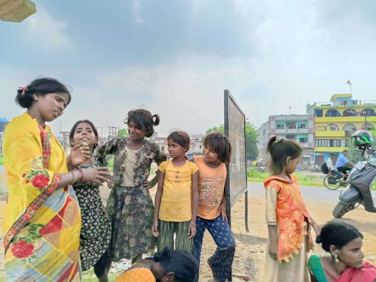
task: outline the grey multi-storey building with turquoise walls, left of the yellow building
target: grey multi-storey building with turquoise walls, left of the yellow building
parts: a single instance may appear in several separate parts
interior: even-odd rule
[[[258,133],[259,159],[267,159],[266,146],[271,137],[280,135],[300,143],[303,148],[304,164],[313,161],[314,116],[308,115],[270,115],[268,121],[256,130]]]

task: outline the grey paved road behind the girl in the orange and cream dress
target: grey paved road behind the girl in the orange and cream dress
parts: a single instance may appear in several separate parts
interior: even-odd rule
[[[342,189],[329,190],[314,186],[300,186],[304,200],[337,203]],[[248,182],[248,195],[265,195],[264,183]]]

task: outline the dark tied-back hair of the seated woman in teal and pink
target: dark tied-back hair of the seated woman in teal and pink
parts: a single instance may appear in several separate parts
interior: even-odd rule
[[[338,250],[356,238],[363,238],[362,233],[355,226],[339,221],[331,220],[326,223],[316,237],[316,243],[320,244],[326,252],[330,252],[330,246],[334,245]]]

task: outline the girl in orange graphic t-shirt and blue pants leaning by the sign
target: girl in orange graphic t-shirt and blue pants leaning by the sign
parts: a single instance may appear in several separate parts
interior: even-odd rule
[[[217,249],[207,263],[214,281],[226,281],[235,255],[235,238],[227,221],[224,197],[226,163],[231,159],[231,145],[229,139],[221,133],[206,135],[203,145],[203,156],[191,159],[199,167],[199,206],[193,255],[200,265],[203,235],[208,229]]]

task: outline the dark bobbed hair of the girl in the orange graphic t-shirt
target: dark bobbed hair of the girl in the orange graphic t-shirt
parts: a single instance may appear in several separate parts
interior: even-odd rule
[[[230,140],[226,135],[223,135],[220,132],[209,133],[205,136],[204,146],[209,146],[215,153],[217,153],[221,162],[231,162],[232,148]]]

